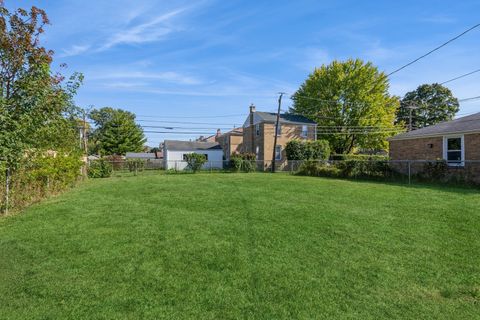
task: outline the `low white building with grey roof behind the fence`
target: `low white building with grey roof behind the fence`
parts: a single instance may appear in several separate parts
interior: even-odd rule
[[[207,162],[203,166],[204,169],[223,168],[223,150],[216,142],[165,140],[163,145],[165,169],[185,169],[187,166],[185,156],[189,153],[205,155]]]

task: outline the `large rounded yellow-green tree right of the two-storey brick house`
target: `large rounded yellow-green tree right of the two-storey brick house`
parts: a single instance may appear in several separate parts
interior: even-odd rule
[[[293,95],[290,112],[318,123],[320,138],[339,154],[358,148],[386,149],[394,135],[397,97],[386,75],[362,60],[333,61],[308,76]]]

